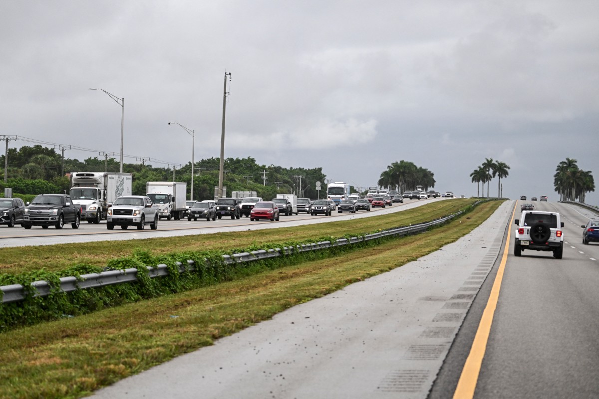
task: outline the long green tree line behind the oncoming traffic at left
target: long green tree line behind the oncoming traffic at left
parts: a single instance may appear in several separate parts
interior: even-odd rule
[[[218,158],[202,159],[194,163],[193,196],[195,200],[214,197],[214,186],[219,180]],[[264,199],[272,199],[279,193],[296,193],[298,196],[316,198],[315,183],[326,181],[322,167],[305,169],[303,167],[282,167],[259,165],[252,157],[244,159],[225,159],[226,173],[223,186],[230,196],[232,191],[256,191]],[[0,165],[4,165],[4,156],[0,156]],[[41,145],[23,146],[18,150],[9,148],[7,182],[4,183],[4,169],[0,180],[1,193],[5,187],[13,188],[13,193],[43,194],[63,193],[71,187],[71,172],[119,172],[119,162],[114,158],[86,160],[62,159],[53,148]],[[182,181],[187,183],[187,197],[191,190],[191,162],[180,169],[174,167],[153,167],[145,163],[123,163],[123,172],[132,173],[132,193],[146,194],[147,181]],[[266,176],[266,180],[262,179]],[[300,179],[302,176],[301,186]],[[325,185],[323,184],[323,188]],[[326,190],[326,188],[325,188]]]

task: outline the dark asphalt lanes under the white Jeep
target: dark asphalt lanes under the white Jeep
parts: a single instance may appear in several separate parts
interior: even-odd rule
[[[583,245],[580,225],[599,215],[555,202],[535,205],[561,214],[564,257],[537,251],[514,257],[512,234],[474,397],[598,398],[599,244]],[[455,391],[494,278],[492,273],[474,301],[430,398]]]

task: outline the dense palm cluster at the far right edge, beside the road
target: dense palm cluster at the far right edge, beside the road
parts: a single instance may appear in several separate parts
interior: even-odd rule
[[[566,158],[555,168],[553,186],[560,201],[585,202],[586,193],[595,191],[595,180],[591,170],[582,170],[576,159]]]

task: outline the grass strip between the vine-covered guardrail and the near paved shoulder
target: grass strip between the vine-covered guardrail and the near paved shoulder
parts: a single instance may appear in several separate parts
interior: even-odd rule
[[[461,202],[460,207],[464,204]],[[333,258],[9,331],[0,340],[0,397],[82,397],[173,357],[211,345],[214,339],[269,319],[295,304],[436,251],[469,233],[499,205],[500,202],[483,203],[441,228]],[[386,217],[379,223],[386,223]],[[314,232],[308,235],[310,229],[314,227],[301,234],[314,236]],[[351,227],[323,229],[347,232]],[[269,234],[252,233],[265,234],[260,240],[268,240]],[[296,234],[291,236],[298,239]],[[279,238],[279,234],[273,237]],[[243,242],[248,239],[244,237]]]

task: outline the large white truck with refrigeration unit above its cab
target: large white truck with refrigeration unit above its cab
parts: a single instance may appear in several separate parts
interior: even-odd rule
[[[106,218],[108,203],[131,195],[131,173],[72,172],[69,196],[81,206],[81,218],[98,224]]]

